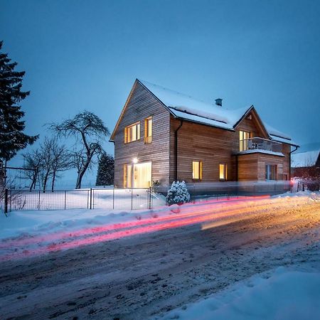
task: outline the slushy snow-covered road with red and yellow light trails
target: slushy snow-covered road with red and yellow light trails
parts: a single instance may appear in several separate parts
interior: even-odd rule
[[[149,319],[274,267],[319,270],[319,198],[242,205],[198,206],[94,238],[60,234],[50,253],[31,257],[14,256],[19,240],[6,242],[12,259],[5,252],[0,265],[0,319]],[[79,247],[83,239],[90,244]]]

